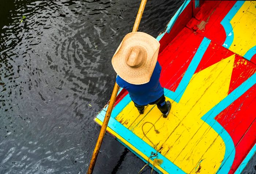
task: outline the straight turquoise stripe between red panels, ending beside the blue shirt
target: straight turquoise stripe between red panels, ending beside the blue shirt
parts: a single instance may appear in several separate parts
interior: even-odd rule
[[[210,39],[207,39],[206,37],[203,38],[203,41],[200,43],[195,56],[193,57],[191,63],[189,64],[188,69],[185,72],[184,76],[182,77],[181,82],[178,85],[175,92],[165,89],[166,97],[173,99],[177,103],[180,101],[185,89],[188,86],[189,81],[191,80],[193,74],[195,73],[196,68],[198,67],[200,61],[202,60],[202,57],[206,52],[206,49],[208,48],[210,42]]]

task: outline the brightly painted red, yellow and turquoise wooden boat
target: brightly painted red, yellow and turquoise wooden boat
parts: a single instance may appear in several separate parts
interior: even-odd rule
[[[157,40],[169,116],[139,114],[120,88],[107,131],[158,173],[241,173],[256,151],[256,2],[186,0]]]

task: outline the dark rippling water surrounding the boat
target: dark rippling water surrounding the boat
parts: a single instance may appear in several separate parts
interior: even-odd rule
[[[1,174],[86,173],[100,129],[93,118],[116,76],[111,58],[139,3],[1,0]],[[139,31],[156,37],[181,3],[148,0]],[[106,134],[94,173],[133,174],[143,166]]]

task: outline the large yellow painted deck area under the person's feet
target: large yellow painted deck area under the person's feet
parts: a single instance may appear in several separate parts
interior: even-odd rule
[[[201,172],[216,172],[225,155],[225,144],[201,117],[227,96],[234,57],[225,58],[193,75],[180,102],[169,99],[172,110],[167,118],[162,117],[156,106],[150,105],[147,107],[150,113],[136,119],[131,115],[133,119],[130,119],[131,113],[138,114],[131,102],[120,113],[122,116],[117,116],[117,120],[130,119],[132,124],[125,124],[127,128],[152,147],[163,147],[161,154],[186,173],[195,173],[204,158],[207,159],[200,163]],[[150,140],[142,132],[145,122],[152,122],[160,132],[157,134],[153,126],[146,123],[144,132]]]

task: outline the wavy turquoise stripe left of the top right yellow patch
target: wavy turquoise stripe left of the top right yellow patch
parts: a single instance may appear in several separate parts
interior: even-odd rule
[[[242,7],[244,2],[245,1],[237,1],[236,4],[234,4],[231,10],[227,13],[225,18],[221,21],[221,24],[226,32],[226,40],[222,46],[224,46],[227,49],[231,46],[234,40],[234,32],[230,21],[236,15],[237,11]]]

